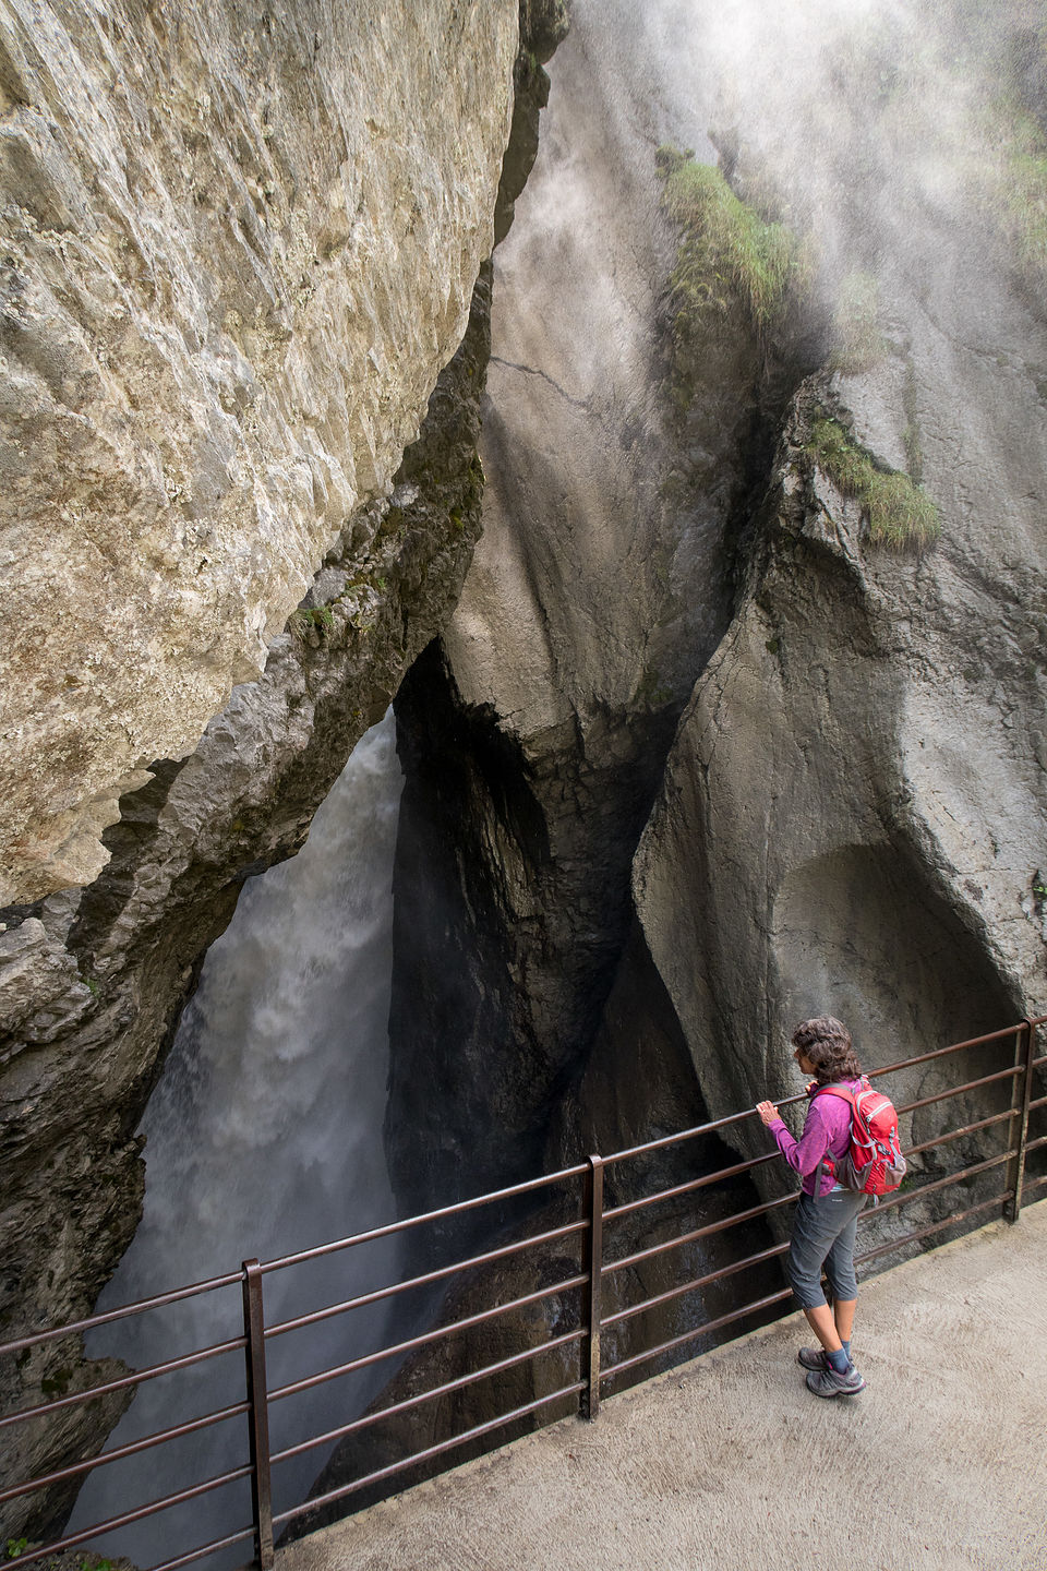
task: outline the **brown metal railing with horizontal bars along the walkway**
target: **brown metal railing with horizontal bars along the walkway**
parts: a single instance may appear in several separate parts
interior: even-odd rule
[[[881,1243],[866,1249],[863,1254],[859,1254],[857,1263],[868,1265],[873,1260],[904,1251],[910,1244],[921,1243],[936,1233],[958,1229],[964,1224],[980,1225],[986,1219],[990,1219],[994,1213],[1014,1222],[1019,1218],[1022,1205],[1028,1200],[1033,1191],[1039,1191],[1044,1185],[1047,1185],[1047,1175],[1030,1178],[1027,1174],[1027,1158],[1030,1153],[1047,1147],[1047,1133],[1030,1136],[1031,1119],[1044,1114],[1047,1109],[1047,1095],[1034,1095],[1034,1075],[1047,1065],[1047,1054],[1038,1056],[1036,1053],[1038,1031],[1044,1024],[1047,1024],[1047,1016],[1039,1020],[1023,1020],[1017,1026],[1008,1026],[1003,1031],[975,1037],[969,1042],[953,1043],[947,1048],[939,1048],[931,1053],[920,1054],[918,1057],[904,1059],[899,1064],[892,1064],[870,1071],[870,1078],[879,1078],[882,1075],[893,1075],[918,1068],[921,1065],[932,1065],[936,1060],[945,1060],[953,1054],[970,1054],[978,1049],[994,1049],[994,1054],[998,1056],[1000,1053],[1006,1054],[1008,1043],[1012,1045],[1012,1053],[1008,1054],[1009,1062],[1006,1062],[1005,1067],[994,1067],[989,1073],[976,1075],[958,1086],[948,1086],[943,1090],[934,1090],[928,1097],[921,1097],[898,1108],[904,1128],[910,1126],[914,1114],[939,1104],[951,1103],[956,1098],[980,1098],[983,1101],[983,1108],[976,1109],[980,1112],[984,1111],[984,1100],[987,1097],[989,1100],[1006,1100],[1006,1106],[997,1108],[983,1117],[976,1117],[961,1126],[943,1128],[940,1133],[932,1134],[920,1144],[907,1144],[906,1155],[910,1158],[910,1167],[912,1158],[926,1158],[926,1153],[929,1152],[940,1153],[958,1141],[984,1136],[986,1131],[994,1128],[1001,1131],[1001,1148],[994,1150],[989,1156],[980,1155],[978,1161],[937,1177],[928,1177],[925,1166],[923,1174],[915,1174],[912,1180],[906,1181],[903,1189],[882,1200],[874,1211],[866,1208],[866,1211],[862,1213],[863,1222],[870,1218],[879,1219],[879,1232],[884,1232],[882,1219],[892,1211],[901,1211],[901,1208],[920,1202],[921,1210],[926,1213],[926,1202],[931,1196],[937,1197],[936,1203],[942,1207],[942,1214],[934,1216],[931,1221],[928,1221],[925,1214],[918,1225],[890,1233],[890,1236]],[[1000,1089],[995,1098],[989,1095],[990,1087]],[[1008,1090],[1009,1097],[1006,1097]],[[802,1095],[785,1098],[780,1106],[788,1106],[790,1103],[799,1103],[802,1100]],[[653,1207],[664,1208],[667,1202],[678,1202],[688,1196],[699,1196],[703,1189],[713,1192],[716,1191],[716,1186],[720,1186],[728,1180],[749,1178],[766,1164],[775,1163],[777,1152],[749,1159],[739,1159],[730,1163],[728,1166],[717,1167],[713,1172],[703,1172],[683,1183],[673,1183],[667,1188],[642,1194],[636,1199],[623,1200],[617,1205],[606,1205],[604,1200],[604,1180],[609,1172],[614,1174],[615,1170],[623,1169],[623,1166],[629,1161],[651,1158],[656,1153],[683,1147],[686,1142],[697,1141],[700,1137],[717,1136],[722,1139],[725,1134],[744,1136],[747,1131],[742,1131],[742,1125],[753,1119],[757,1119],[755,1111],[746,1109],[744,1112],[736,1112],[725,1119],[716,1119],[710,1123],[684,1130],[678,1134],[664,1136],[662,1139],[648,1141],[642,1145],[615,1152],[611,1156],[592,1155],[584,1163],[564,1167],[559,1172],[546,1174],[542,1178],[534,1178],[527,1183],[518,1183],[491,1194],[463,1200],[457,1205],[441,1207],[440,1210],[427,1211],[421,1216],[389,1224],[388,1227],[377,1227],[366,1233],[337,1240],[336,1243],[316,1249],[306,1249],[278,1260],[268,1260],[264,1263],[259,1263],[257,1260],[245,1260],[239,1271],[229,1271],[224,1276],[210,1277],[206,1282],[195,1282],[170,1293],[140,1299],[138,1302],[127,1304],[121,1309],[113,1309],[100,1315],[91,1315],[86,1320],[39,1331],[33,1335],[19,1337],[17,1340],[0,1345],[0,1357],[25,1357],[28,1349],[42,1343],[63,1337],[80,1335],[83,1332],[94,1331],[99,1326],[113,1324],[115,1321],[126,1320],[132,1315],[141,1315],[146,1310],[176,1304],[184,1299],[199,1298],[220,1288],[234,1287],[235,1284],[242,1285],[243,1331],[240,1335],[215,1342],[209,1346],[196,1348],[192,1353],[162,1364],[149,1365],[148,1368],[137,1370],[118,1379],[105,1381],[89,1390],[55,1397],[49,1401],[38,1403],[33,1408],[6,1414],[5,1417],[0,1417],[0,1439],[3,1437],[3,1431],[9,1430],[13,1425],[41,1419],[46,1420],[52,1415],[66,1412],[71,1408],[96,1401],[104,1395],[115,1395],[118,1392],[137,1389],[146,1381],[157,1379],[179,1370],[187,1370],[231,1353],[243,1353],[246,1375],[243,1400],[217,1408],[215,1411],[188,1422],[157,1430],[143,1439],[119,1445],[85,1461],[57,1467],[52,1472],[28,1478],[24,1483],[5,1486],[0,1489],[0,1505],[36,1491],[74,1485],[96,1467],[105,1467],[122,1458],[160,1447],[170,1441],[199,1433],[218,1423],[224,1423],[229,1419],[239,1419],[240,1415],[246,1419],[246,1459],[240,1466],[228,1469],[215,1477],[204,1478],[190,1488],[160,1496],[135,1510],[122,1511],[107,1521],[96,1522],[91,1527],[66,1533],[52,1543],[27,1549],[20,1555],[20,1563],[39,1560],[94,1540],[102,1540],[107,1533],[113,1533],[121,1527],[141,1521],[143,1518],[154,1516],[155,1513],[165,1511],[174,1505],[198,1499],[237,1480],[250,1480],[253,1500],[253,1521],[250,1524],[245,1524],[237,1532],[212,1540],[210,1543],[192,1547],[174,1558],[168,1558],[162,1562],[155,1571],[174,1571],[176,1566],[188,1565],[190,1562],[201,1560],[206,1555],[218,1554],[223,1549],[248,1543],[254,1547],[256,1562],[264,1568],[264,1571],[268,1571],[268,1566],[273,1563],[275,1535],[281,1530],[294,1527],[300,1518],[306,1518],[309,1513],[330,1507],[352,1494],[366,1489],[374,1491],[378,1485],[385,1485],[388,1480],[396,1478],[407,1469],[435,1461],[447,1452],[454,1452],[469,1442],[480,1441],[498,1430],[504,1430],[510,1425],[520,1425],[527,1419],[537,1419],[545,1409],[554,1409],[557,1404],[562,1408],[567,1400],[576,1400],[581,1412],[589,1419],[595,1419],[600,1411],[601,1390],[607,1387],[607,1382],[620,1379],[625,1373],[636,1370],[644,1364],[666,1360],[669,1354],[681,1349],[688,1343],[699,1338],[708,1338],[711,1334],[724,1331],[739,1321],[752,1323],[753,1316],[769,1318],[769,1315],[775,1310],[775,1306],[780,1306],[783,1301],[791,1298],[790,1288],[783,1287],[772,1293],[764,1293],[757,1299],[739,1304],[730,1309],[730,1312],[717,1315],[711,1320],[702,1318],[703,1304],[699,1301],[692,1323],[689,1323],[681,1334],[673,1334],[651,1345],[647,1345],[642,1338],[644,1345],[639,1351],[617,1357],[614,1362],[606,1364],[606,1367],[601,1362],[601,1353],[607,1340],[607,1332],[612,1329],[623,1327],[626,1323],[634,1323],[639,1316],[650,1313],[651,1310],[662,1309],[669,1304],[678,1304],[688,1295],[700,1295],[703,1288],[711,1287],[714,1282],[720,1282],[753,1266],[769,1265],[788,1249],[786,1243],[772,1243],[771,1246],[744,1255],[742,1258],[731,1258],[727,1265],[722,1265],[714,1271],[705,1271],[695,1277],[677,1282],[670,1288],[644,1298],[639,1302],[623,1304],[611,1313],[603,1312],[604,1288],[611,1284],[623,1282],[631,1269],[642,1266],[656,1257],[669,1255],[673,1251],[683,1251],[688,1244],[697,1244],[702,1240],[713,1238],[713,1235],[722,1235],[741,1224],[763,1224],[772,1213],[796,1199],[797,1191],[791,1191],[769,1200],[761,1200],[757,1205],[746,1205],[739,1211],[728,1216],[719,1216],[714,1221],[703,1222],[702,1225],[684,1227],[683,1232],[673,1233],[669,1240],[609,1258],[606,1257],[604,1241],[614,1232],[615,1224],[622,1219],[648,1211]],[[959,1211],[953,1210],[945,1197],[945,1191],[958,1185],[972,1183],[975,1178],[980,1180],[980,1186],[983,1189],[986,1185],[992,1183],[992,1192],[987,1196],[981,1194],[975,1203],[967,1205]],[[408,1277],[403,1282],[359,1293],[355,1298],[325,1306],[312,1313],[267,1324],[264,1280],[273,1273],[295,1269],[306,1262],[356,1249],[380,1238],[403,1235],[424,1225],[447,1224],[494,1203],[504,1205],[505,1202],[531,1202],[542,1197],[543,1192],[549,1189],[562,1189],[564,1186],[573,1188],[578,1196],[578,1214],[571,1221],[545,1229],[526,1238],[501,1244],[499,1247],[488,1249],[485,1252],[471,1254],[466,1258]],[[367,1304],[396,1299],[411,1290],[447,1284],[466,1271],[477,1271],[499,1262],[509,1262],[515,1257],[526,1255],[527,1252],[542,1251],[551,1244],[560,1244],[568,1240],[578,1241],[579,1246],[578,1269],[551,1285],[537,1287],[532,1291],[509,1299],[507,1302],[493,1304],[490,1309],[465,1315],[444,1324],[436,1324],[419,1335],[408,1337],[377,1351],[348,1359],[316,1375],[275,1387],[267,1384],[265,1349],[267,1345],[276,1337],[316,1326]],[[565,1301],[571,1295],[578,1295],[578,1324],[571,1329],[546,1337],[546,1340],[540,1342],[537,1346],[516,1349],[507,1357],[491,1362],[479,1370],[472,1370],[460,1378],[444,1381],[429,1390],[394,1401],[386,1408],[367,1411],[363,1415],[352,1419],[352,1422],[342,1423],[333,1430],[325,1430],[323,1433],[314,1434],[295,1445],[289,1445],[276,1452],[272,1450],[268,1415],[275,1404],[286,1401],[290,1397],[316,1390],[317,1387],[353,1371],[369,1368],[385,1360],[402,1359],[405,1354],[422,1348],[432,1348],[447,1337],[469,1331],[488,1321],[499,1320],[512,1312],[518,1312],[554,1298]],[[272,1475],[273,1469],[281,1463],[309,1450],[331,1445],[333,1442],[347,1439],[348,1436],[359,1434],[391,1415],[416,1411],[425,1403],[461,1392],[469,1386],[476,1386],[479,1381],[502,1375],[510,1368],[523,1367],[549,1351],[559,1351],[564,1354],[568,1348],[576,1349],[576,1353],[571,1354],[571,1357],[576,1359],[573,1370],[576,1378],[567,1379],[564,1384],[557,1386],[556,1390],[537,1397],[532,1401],[518,1404],[510,1411],[499,1412],[494,1419],[472,1425],[463,1433],[443,1439],[438,1444],[425,1447],[424,1450],[411,1452],[407,1456],[397,1458],[388,1466],[374,1469],[363,1477],[353,1478],[350,1483],[339,1485],[337,1488],[300,1505],[294,1505],[289,1510],[278,1513],[273,1511]]]

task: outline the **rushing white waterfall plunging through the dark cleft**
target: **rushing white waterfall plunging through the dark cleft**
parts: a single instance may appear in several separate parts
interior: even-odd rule
[[[392,1219],[381,1119],[400,789],[389,713],[356,746],[298,856],[245,886],[146,1111],[144,1214],[99,1309]],[[267,1323],[388,1282],[396,1263],[394,1246],[381,1241],[267,1276]],[[378,1345],[385,1320],[375,1306],[270,1342],[270,1389]],[[143,1368],[239,1329],[239,1288],[221,1290],[105,1327],[88,1351]],[[273,1450],[345,1422],[388,1373],[380,1365],[309,1400],[273,1404]],[[108,1447],[235,1403],[243,1389],[240,1353],[154,1379]],[[237,1417],[113,1463],[85,1485],[71,1529],[245,1459]],[[276,1470],[276,1510],[301,1499],[323,1459],[311,1450]],[[240,1481],[91,1547],[157,1563],[235,1532],[250,1514]],[[240,1544],[209,1565],[239,1565],[250,1552]]]

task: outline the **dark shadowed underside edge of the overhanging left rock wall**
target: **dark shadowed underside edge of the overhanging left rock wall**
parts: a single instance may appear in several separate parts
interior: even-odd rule
[[[425,53],[435,16],[413,9],[408,27],[424,57],[422,96],[433,60],[441,58]],[[356,22],[363,25],[361,16]],[[460,39],[463,57],[454,66],[468,82],[451,80],[447,60],[444,91],[454,102],[457,94],[463,102],[474,94],[477,113],[482,108],[487,116],[480,143],[493,145],[501,135],[504,145],[515,13],[505,19],[501,6],[491,8],[480,25],[468,8],[447,8],[452,36],[457,27],[474,22],[480,39]],[[226,19],[226,25],[232,24]],[[389,25],[385,8],[375,30],[381,49],[396,52]],[[405,60],[399,69],[407,69]],[[526,83],[518,93],[515,119],[521,124],[513,129],[501,182],[509,204],[529,168],[529,113],[537,116],[534,99],[540,97],[537,66],[526,61],[521,69],[518,63],[515,74],[534,83],[529,112],[520,107]],[[345,77],[348,86],[355,80]],[[372,88],[377,91],[374,82]],[[375,126],[385,124],[388,110],[385,101],[377,105]],[[441,138],[444,134],[451,137],[441,123]],[[438,146],[446,149],[449,141],[441,138]],[[414,143],[397,143],[391,156],[407,157],[407,146]],[[316,149],[317,157],[322,152]],[[458,148],[454,168],[469,168]],[[498,160],[488,174],[487,218],[477,220],[468,242],[477,255],[490,244]],[[460,204],[479,203],[479,195],[469,196],[465,185],[457,187],[457,176],[447,178],[441,265],[452,256],[454,267],[465,267]],[[436,201],[435,192],[430,196]],[[410,245],[397,255],[405,269],[418,262]],[[383,251],[383,267],[386,261]],[[435,255],[430,261],[436,265]],[[397,275],[396,311],[392,275],[378,269],[372,284],[383,298],[389,295],[392,314],[407,309],[410,272]],[[422,289],[421,319],[430,305]],[[146,784],[122,795],[119,822],[105,831],[102,873],[86,889],[3,911],[5,1337],[89,1310],[137,1222],[143,1166],[133,1131],[207,944],[228,922],[243,880],[298,848],[355,742],[381,716],[405,668],[451,614],[480,526],[483,476],[476,448],[488,314],[490,265],[483,264],[461,346],[436,382],[422,430],[392,476],[391,495],[353,507],[330,548],[328,539],[317,548],[322,567],[287,630],[270,639],[262,676],[234,690],[195,753],[154,764]],[[408,352],[416,355],[413,331],[405,328]],[[289,342],[287,353],[292,349]],[[413,360],[410,375],[416,374]],[[399,418],[396,408],[389,418]],[[303,440],[312,440],[308,432],[305,423]],[[388,430],[375,440],[391,441]],[[88,1370],[75,1340],[47,1345],[17,1368],[6,1360],[0,1371],[3,1408],[39,1400],[41,1390],[74,1390],[91,1375],[97,1379],[105,1370]],[[11,1436],[6,1442],[5,1475],[28,1477],[97,1450],[119,1401],[118,1395],[107,1411],[69,1409],[31,1431],[14,1431],[16,1444]],[[46,1532],[66,1505],[57,1492],[17,1502],[6,1508],[3,1530]]]

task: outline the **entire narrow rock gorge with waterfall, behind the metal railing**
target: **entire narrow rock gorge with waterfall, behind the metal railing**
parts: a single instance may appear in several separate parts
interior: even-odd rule
[[[0,1340],[785,1097],[808,1013],[876,1065],[1047,1012],[1041,6],[11,0],[0,93]],[[741,1233],[695,1265],[780,1236]],[[235,1335],[232,1299],[176,1310],[0,1359],[3,1412]],[[330,1423],[469,1354],[341,1382]],[[0,1430],[3,1474],[181,1400]],[[281,1499],[488,1414],[480,1386],[308,1453]],[[146,1481],[0,1503],[2,1536]]]

